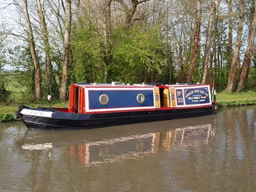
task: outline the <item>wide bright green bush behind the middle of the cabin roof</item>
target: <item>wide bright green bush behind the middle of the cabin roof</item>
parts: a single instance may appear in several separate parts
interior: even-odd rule
[[[116,42],[110,70],[112,80],[121,82],[150,82],[162,73],[166,59],[163,54],[164,39],[158,28],[141,31],[130,28],[114,33]]]

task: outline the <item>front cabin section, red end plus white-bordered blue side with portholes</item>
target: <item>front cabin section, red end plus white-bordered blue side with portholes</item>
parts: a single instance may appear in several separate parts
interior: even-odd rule
[[[160,107],[159,88],[135,85],[70,86],[68,112],[107,112]]]

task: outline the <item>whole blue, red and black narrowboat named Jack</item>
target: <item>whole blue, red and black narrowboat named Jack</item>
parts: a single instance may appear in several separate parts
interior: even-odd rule
[[[70,130],[198,117],[216,110],[216,92],[209,84],[75,83],[67,108],[22,105],[14,118],[29,129]]]

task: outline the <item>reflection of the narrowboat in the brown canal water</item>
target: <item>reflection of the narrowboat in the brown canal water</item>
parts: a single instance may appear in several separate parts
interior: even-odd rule
[[[141,159],[159,151],[175,149],[175,147],[208,144],[209,137],[214,135],[211,124],[165,129],[146,134],[126,134],[126,136],[117,137],[112,135],[108,139],[106,139],[107,136],[97,138],[95,133],[92,139],[94,141],[86,140],[76,131],[41,132],[44,133],[43,136],[38,132],[34,137],[25,135],[22,149],[53,150],[65,147],[70,157],[84,166],[114,163],[126,159]],[[35,130],[30,133],[35,134]]]

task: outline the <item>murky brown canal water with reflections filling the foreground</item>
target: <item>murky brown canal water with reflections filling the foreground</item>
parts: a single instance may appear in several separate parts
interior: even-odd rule
[[[255,191],[256,106],[76,131],[0,124],[0,191]]]

